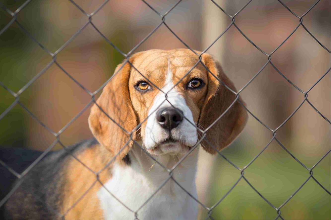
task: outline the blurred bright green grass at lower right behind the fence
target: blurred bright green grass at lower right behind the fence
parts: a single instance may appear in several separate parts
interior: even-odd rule
[[[249,151],[250,147],[255,146],[241,139],[224,149],[222,154],[238,166],[247,158],[252,160],[256,156]],[[216,204],[241,176],[239,170],[221,156],[218,157],[213,172],[215,175],[211,190],[211,205]],[[317,161],[318,159],[312,161],[312,164]],[[239,167],[242,169],[245,165]],[[309,171],[283,150],[276,141],[272,141],[244,172],[252,186],[277,208],[309,177]],[[313,176],[330,190],[330,154],[314,168],[313,172]],[[330,205],[330,195],[310,178],[280,210],[285,219],[330,219]],[[214,219],[274,219],[276,216],[277,211],[243,178],[213,209],[212,214]]]

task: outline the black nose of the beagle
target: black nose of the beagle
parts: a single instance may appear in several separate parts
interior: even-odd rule
[[[173,107],[161,109],[156,112],[156,120],[161,127],[170,131],[183,120],[183,111]]]

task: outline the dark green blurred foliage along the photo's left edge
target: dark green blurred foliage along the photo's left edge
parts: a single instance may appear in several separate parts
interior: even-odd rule
[[[10,10],[15,11],[24,1],[5,1],[4,5]],[[38,7],[38,5],[35,5]],[[1,29],[11,20],[11,16],[1,10],[0,27]],[[39,17],[40,18],[40,17]],[[38,14],[32,19],[38,19]],[[17,92],[22,86],[20,81],[28,78],[25,69],[30,65],[28,61],[32,45],[28,37],[17,27],[12,24],[2,35],[0,35],[0,81],[9,89]],[[4,112],[14,101],[15,98],[1,87],[0,112]],[[26,136],[25,129],[27,124],[24,123],[24,110],[20,107],[14,107],[1,120],[0,133],[6,134],[0,136],[0,145],[22,147],[25,146]]]

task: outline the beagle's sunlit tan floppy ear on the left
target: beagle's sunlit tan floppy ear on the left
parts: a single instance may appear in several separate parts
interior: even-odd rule
[[[130,59],[131,63],[132,61],[133,58]],[[117,66],[115,73],[122,65],[123,63]],[[88,117],[89,127],[94,137],[115,155],[130,140],[129,135],[123,129],[131,132],[137,126],[137,119],[131,104],[128,88],[130,70],[131,65],[126,63],[108,82],[96,101],[97,105],[94,104],[92,106],[90,116]],[[123,129],[112,121],[99,107]],[[133,138],[135,138],[135,134],[136,132],[133,133]],[[132,143],[132,140],[129,141],[118,155],[118,159],[125,157]]]

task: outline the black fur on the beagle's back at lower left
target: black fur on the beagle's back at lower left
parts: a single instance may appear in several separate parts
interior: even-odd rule
[[[97,144],[95,139],[76,143],[66,149],[47,153],[23,178],[7,184],[13,195],[5,204],[4,217],[9,219],[57,219],[61,213],[63,194],[66,184],[66,167],[73,159],[72,155]],[[2,149],[3,161],[18,173],[24,172],[42,152],[23,148]],[[4,172],[7,172],[6,168]],[[13,177],[10,178],[13,180]],[[5,195],[3,195],[5,196]]]

